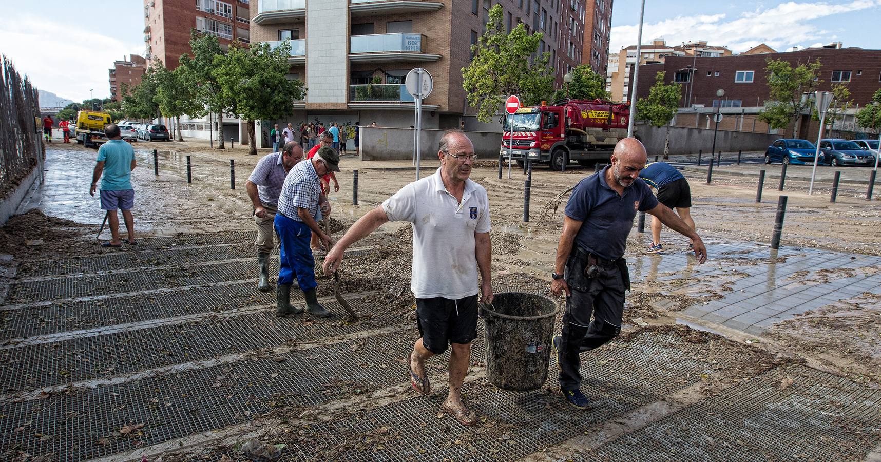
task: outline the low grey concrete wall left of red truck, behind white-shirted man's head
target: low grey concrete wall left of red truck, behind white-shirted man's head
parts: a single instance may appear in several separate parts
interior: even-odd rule
[[[420,130],[421,159],[437,159],[438,143],[445,130]],[[501,134],[485,131],[466,131],[474,144],[474,152],[481,158],[499,156]],[[384,127],[361,127],[361,160],[408,160],[413,158],[413,130]]]

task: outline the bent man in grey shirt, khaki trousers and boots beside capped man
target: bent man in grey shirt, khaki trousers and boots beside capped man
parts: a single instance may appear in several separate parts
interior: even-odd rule
[[[257,161],[245,189],[254,205],[254,222],[257,225],[257,264],[260,265],[260,281],[257,288],[269,292],[270,271],[267,259],[272,252],[273,221],[278,207],[278,195],[285,183],[287,172],[303,160],[303,147],[296,141],[288,141],[281,153],[271,153]]]

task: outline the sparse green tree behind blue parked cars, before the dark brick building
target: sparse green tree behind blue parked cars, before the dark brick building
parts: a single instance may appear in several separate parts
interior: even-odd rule
[[[811,93],[821,82],[819,60],[812,63],[798,63],[796,67],[782,59],[768,58],[765,68],[768,82],[768,97],[765,108],[759,113],[759,120],[782,129],[793,122],[792,137],[798,138],[798,125],[802,111],[810,101],[803,101],[802,93]]]

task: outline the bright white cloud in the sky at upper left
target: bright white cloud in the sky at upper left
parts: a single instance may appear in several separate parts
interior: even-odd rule
[[[107,70],[115,60],[143,54],[143,43],[100,34],[100,23],[79,25],[31,15],[7,16],[0,25],[0,52],[41,90],[73,101],[110,95]]]

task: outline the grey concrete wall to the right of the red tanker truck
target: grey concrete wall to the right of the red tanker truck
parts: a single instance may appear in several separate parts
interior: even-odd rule
[[[638,123],[637,134],[646,146],[649,156],[663,154],[665,127],[656,128],[652,125]],[[781,138],[774,133],[750,133],[745,131],[719,130],[716,134],[716,152],[760,151]],[[670,127],[670,153],[697,153],[699,150],[709,153],[713,148],[713,129],[696,129],[691,127]]]

